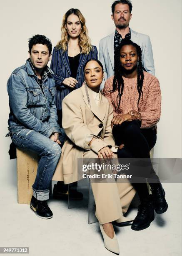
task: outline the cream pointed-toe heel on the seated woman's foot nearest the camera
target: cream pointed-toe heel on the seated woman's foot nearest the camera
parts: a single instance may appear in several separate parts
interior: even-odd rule
[[[100,226],[100,231],[102,233],[102,236],[104,238],[104,246],[105,246],[105,248],[107,250],[111,251],[112,253],[115,253],[115,254],[119,255],[120,254],[120,247],[119,247],[119,244],[117,242],[117,238],[116,238],[115,232],[114,232],[114,237],[110,238],[105,233],[102,224],[99,223],[99,226]]]

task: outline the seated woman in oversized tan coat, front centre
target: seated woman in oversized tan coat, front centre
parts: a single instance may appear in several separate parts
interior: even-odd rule
[[[65,184],[77,181],[77,159],[112,159],[111,120],[113,109],[100,93],[103,67],[92,59],[85,64],[85,82],[81,88],[70,92],[62,102],[62,127],[67,135],[62,147],[60,162],[54,180]],[[135,190],[126,183],[91,183],[96,204],[96,217],[104,238],[105,247],[119,254],[119,245],[112,222],[122,226],[132,220],[122,214],[127,211]]]

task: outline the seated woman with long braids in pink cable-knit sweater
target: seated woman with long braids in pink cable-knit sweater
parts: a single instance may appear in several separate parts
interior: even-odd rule
[[[154,220],[154,210],[161,214],[168,207],[164,189],[150,161],[161,114],[161,92],[158,79],[142,67],[140,46],[129,39],[123,39],[115,51],[115,75],[105,82],[104,95],[114,109],[111,127],[119,146],[118,158],[148,159],[150,164],[147,181],[152,196],[146,184],[148,174],[140,178],[140,184],[133,183],[141,204],[132,229],[142,230]]]

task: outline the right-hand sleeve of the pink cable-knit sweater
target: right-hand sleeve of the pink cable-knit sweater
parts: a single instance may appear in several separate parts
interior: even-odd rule
[[[148,90],[145,109],[140,111],[142,115],[141,128],[150,128],[160,120],[161,114],[161,91],[158,79],[151,82]]]

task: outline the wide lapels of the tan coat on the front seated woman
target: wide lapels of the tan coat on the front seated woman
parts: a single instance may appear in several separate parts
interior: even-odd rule
[[[92,95],[92,90],[89,87],[87,87],[87,91],[90,99],[90,105],[89,105],[85,86],[87,85],[83,83],[82,87],[80,88],[83,93],[83,100],[85,101],[85,104],[87,105],[87,107],[92,111],[92,113],[102,121],[105,118],[107,101],[105,101],[104,96],[100,93],[99,104],[97,105]]]

